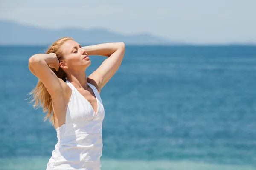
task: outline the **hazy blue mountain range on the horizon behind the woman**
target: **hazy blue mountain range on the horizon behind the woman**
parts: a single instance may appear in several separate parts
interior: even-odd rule
[[[122,35],[106,29],[66,28],[50,30],[20,23],[0,21],[0,45],[49,45],[61,37],[72,37],[80,44],[125,42],[131,45],[167,45],[169,40],[151,34]]]

